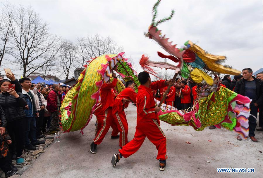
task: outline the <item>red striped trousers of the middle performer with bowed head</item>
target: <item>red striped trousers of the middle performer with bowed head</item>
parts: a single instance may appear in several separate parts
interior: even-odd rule
[[[116,112],[113,118],[120,132],[120,147],[122,148],[128,143],[128,122],[124,109],[122,109],[121,112]]]

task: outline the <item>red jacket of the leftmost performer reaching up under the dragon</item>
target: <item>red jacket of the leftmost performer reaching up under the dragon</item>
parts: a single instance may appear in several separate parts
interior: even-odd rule
[[[102,111],[112,107],[114,104],[114,98],[112,96],[111,88],[114,88],[117,83],[117,78],[114,78],[111,83],[103,83],[100,88],[100,103],[102,104]]]

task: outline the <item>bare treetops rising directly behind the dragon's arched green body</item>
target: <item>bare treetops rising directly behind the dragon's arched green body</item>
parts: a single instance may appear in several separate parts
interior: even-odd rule
[[[123,51],[123,47],[118,46],[109,36],[103,38],[99,34],[77,38],[77,46],[79,63],[82,66],[83,64],[87,64],[86,62],[90,58],[104,54],[118,54]]]

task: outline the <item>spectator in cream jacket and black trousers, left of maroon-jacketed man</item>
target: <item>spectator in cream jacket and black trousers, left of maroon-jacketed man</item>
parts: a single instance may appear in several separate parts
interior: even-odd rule
[[[40,88],[40,84],[38,83],[36,87],[32,90],[35,94],[35,99],[37,103],[37,111],[39,113],[39,117],[36,118],[36,137],[37,139],[45,137],[42,134],[42,125],[43,125],[43,119],[44,119],[44,112],[45,108],[47,106],[47,100],[44,99],[44,96],[38,91]]]

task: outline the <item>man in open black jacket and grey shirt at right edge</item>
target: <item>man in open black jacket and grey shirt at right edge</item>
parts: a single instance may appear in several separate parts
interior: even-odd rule
[[[252,69],[245,68],[242,70],[243,79],[236,83],[234,92],[249,97],[250,103],[250,117],[248,118],[249,136],[253,142],[257,142],[255,138],[255,128],[257,126],[257,107],[263,103],[263,83],[261,80],[252,76]],[[238,136],[238,140],[241,138]]]

